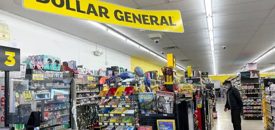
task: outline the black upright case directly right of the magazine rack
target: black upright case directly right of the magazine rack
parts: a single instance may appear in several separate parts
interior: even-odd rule
[[[178,110],[177,130],[194,130],[194,111],[192,98],[179,98],[176,100]]]

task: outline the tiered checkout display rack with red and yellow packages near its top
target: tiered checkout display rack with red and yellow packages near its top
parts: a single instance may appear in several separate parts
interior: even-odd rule
[[[97,87],[99,87],[100,91],[105,90],[105,88],[114,88],[114,87],[127,87],[132,85],[139,85],[138,81],[129,81],[129,82],[117,82],[117,83],[107,83],[107,84],[97,84]],[[124,85],[124,86],[121,86]],[[98,116],[99,116],[99,122],[101,129],[105,129],[108,126],[129,126],[136,128],[136,126],[139,125],[139,116],[138,116],[138,104],[137,104],[137,95],[128,95],[128,96],[102,96],[97,97],[98,100],[108,100],[108,102],[111,102],[112,100],[119,100],[116,104],[112,105],[97,105],[99,108]],[[124,104],[121,104],[123,101],[125,101]],[[126,104],[127,102],[127,104]],[[112,113],[111,110],[109,110],[106,113],[106,109],[111,108],[111,110],[114,109],[122,109],[125,108],[123,113]],[[132,113],[133,112],[133,113]],[[133,120],[130,120],[130,118],[133,117]],[[124,119],[124,120],[123,120]],[[126,120],[129,119],[129,120]],[[115,120],[115,121],[114,121]]]

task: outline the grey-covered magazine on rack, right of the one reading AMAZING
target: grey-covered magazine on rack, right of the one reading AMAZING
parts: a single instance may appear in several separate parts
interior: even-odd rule
[[[158,105],[157,111],[161,113],[167,113],[167,114],[173,113],[174,93],[156,91],[156,99],[157,99],[157,105]]]

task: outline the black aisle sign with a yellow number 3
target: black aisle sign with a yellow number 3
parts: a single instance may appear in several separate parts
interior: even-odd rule
[[[20,71],[20,49],[0,46],[0,70]]]

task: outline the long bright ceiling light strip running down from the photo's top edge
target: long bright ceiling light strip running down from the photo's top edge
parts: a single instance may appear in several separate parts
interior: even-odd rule
[[[209,40],[210,40],[210,46],[211,46],[212,61],[213,61],[213,67],[214,67],[214,75],[216,75],[213,18],[212,18],[212,1],[211,0],[204,0],[204,4],[205,4],[206,16],[207,16],[207,25],[208,25],[208,31],[209,31]]]

